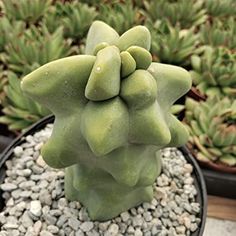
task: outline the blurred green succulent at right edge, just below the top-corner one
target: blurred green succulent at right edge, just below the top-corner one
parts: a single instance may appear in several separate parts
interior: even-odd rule
[[[236,48],[235,35],[236,24],[234,17],[229,17],[225,21],[215,18],[200,27],[201,42],[213,47],[225,46],[234,50]]]

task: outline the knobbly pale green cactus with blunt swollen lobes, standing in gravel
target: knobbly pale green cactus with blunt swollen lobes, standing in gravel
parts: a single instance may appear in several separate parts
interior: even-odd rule
[[[25,94],[55,114],[45,161],[66,168],[66,197],[82,202],[92,219],[150,201],[161,170],[158,151],[188,138],[170,108],[190,89],[190,75],[152,63],[150,44],[143,26],[119,36],[95,21],[87,55],[53,61],[22,81]]]

